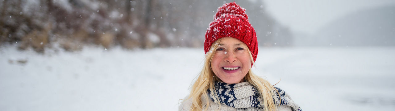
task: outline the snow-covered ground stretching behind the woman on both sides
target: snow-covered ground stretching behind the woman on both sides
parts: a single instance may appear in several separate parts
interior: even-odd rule
[[[0,111],[175,111],[203,49],[0,47]],[[256,74],[304,111],[395,111],[395,47],[261,47]]]

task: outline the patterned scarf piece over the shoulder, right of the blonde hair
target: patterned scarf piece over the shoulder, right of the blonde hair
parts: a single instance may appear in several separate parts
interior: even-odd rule
[[[274,87],[275,88],[275,96],[273,99],[275,100],[276,105],[284,105],[285,106],[290,106],[292,108],[292,111],[302,111],[302,109],[297,105],[295,102],[293,102],[292,98],[288,93],[286,93],[283,89]]]

